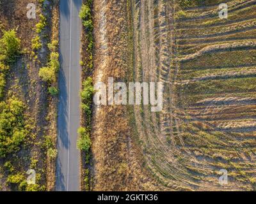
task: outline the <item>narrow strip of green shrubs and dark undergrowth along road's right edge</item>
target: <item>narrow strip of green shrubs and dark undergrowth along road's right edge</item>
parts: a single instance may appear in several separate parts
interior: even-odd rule
[[[82,91],[81,91],[81,128],[79,128],[79,140],[77,147],[81,150],[81,189],[90,190],[90,147],[92,141],[92,97],[93,97],[93,20],[92,20],[92,0],[84,0],[79,17],[83,24],[81,67],[82,67]]]

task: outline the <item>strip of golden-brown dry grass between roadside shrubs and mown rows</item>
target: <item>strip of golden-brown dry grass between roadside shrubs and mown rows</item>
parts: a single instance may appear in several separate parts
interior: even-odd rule
[[[126,1],[94,1],[94,82],[106,82],[109,76],[127,80],[127,6]],[[127,107],[95,106],[92,129],[93,190],[156,189],[138,159],[141,150],[129,128]]]

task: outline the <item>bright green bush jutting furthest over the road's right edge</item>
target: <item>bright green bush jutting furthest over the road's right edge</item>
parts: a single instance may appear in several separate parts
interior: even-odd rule
[[[79,135],[79,140],[77,140],[77,148],[80,150],[84,150],[85,152],[88,152],[92,145],[88,129],[79,128],[77,130],[77,133]]]

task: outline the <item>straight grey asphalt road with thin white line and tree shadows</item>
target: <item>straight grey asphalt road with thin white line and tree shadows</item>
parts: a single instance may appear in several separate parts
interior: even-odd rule
[[[60,102],[58,106],[58,156],[56,191],[79,191],[80,155],[77,129],[80,126],[80,36],[82,0],[60,0]]]

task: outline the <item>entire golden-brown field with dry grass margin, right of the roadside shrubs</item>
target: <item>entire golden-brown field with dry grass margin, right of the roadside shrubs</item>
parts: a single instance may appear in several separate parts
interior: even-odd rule
[[[94,1],[95,82],[164,83],[162,112],[94,107],[94,190],[255,190],[256,1],[218,4]]]

